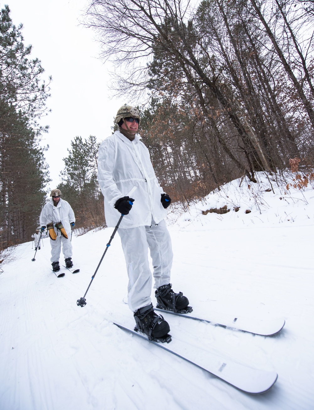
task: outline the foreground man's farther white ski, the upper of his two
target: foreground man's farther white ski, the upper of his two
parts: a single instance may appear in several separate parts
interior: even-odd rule
[[[202,317],[194,317],[189,313],[177,313],[172,310],[164,310],[154,307],[154,310],[159,312],[175,314],[176,316],[187,317],[189,319],[198,320],[201,322],[212,323],[215,326],[222,326],[233,330],[241,330],[243,332],[253,333],[254,335],[273,336],[284,327],[284,319],[254,319],[248,317],[233,317],[223,314],[212,314],[210,319]]]

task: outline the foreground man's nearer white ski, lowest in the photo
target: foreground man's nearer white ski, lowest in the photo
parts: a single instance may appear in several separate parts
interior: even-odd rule
[[[172,342],[165,347],[165,344],[148,340],[148,337],[142,333],[137,333],[118,323],[114,324],[132,335],[137,335],[147,340],[147,342],[155,344],[155,346],[200,367],[243,392],[250,394],[264,393],[269,390],[277,380],[278,374],[275,371],[253,369],[252,367],[239,364],[228,357],[224,357],[223,353],[216,349],[207,351],[197,346],[191,346],[180,339],[173,339]]]

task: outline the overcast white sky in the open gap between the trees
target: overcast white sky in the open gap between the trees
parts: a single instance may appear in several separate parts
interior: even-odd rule
[[[81,10],[87,0],[7,0],[11,19],[23,23],[25,45],[32,44],[32,57],[41,60],[42,78],[52,75],[51,97],[47,106],[52,112],[41,121],[49,125],[43,145],[49,144],[46,159],[50,166],[48,189],[60,182],[64,169],[62,158],[68,155],[71,140],[95,135],[102,141],[111,134],[118,108],[132,101],[117,100],[109,91],[109,65],[100,59],[94,32],[79,25]],[[110,71],[111,71],[110,67]],[[47,189],[47,190],[48,190]]]

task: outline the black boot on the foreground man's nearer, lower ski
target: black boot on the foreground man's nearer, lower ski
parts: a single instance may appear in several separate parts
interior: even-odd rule
[[[140,331],[148,336],[148,340],[155,342],[171,342],[171,335],[168,335],[170,327],[168,322],[162,316],[158,316],[152,307],[152,303],[148,306],[141,307],[134,312],[136,326],[134,330]]]

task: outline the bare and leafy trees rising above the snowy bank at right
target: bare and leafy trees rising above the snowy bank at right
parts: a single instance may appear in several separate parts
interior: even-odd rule
[[[102,58],[118,68],[118,95],[148,101],[141,135],[161,185],[184,202],[295,157],[311,170],[314,2],[195,4],[91,0],[86,9]]]

